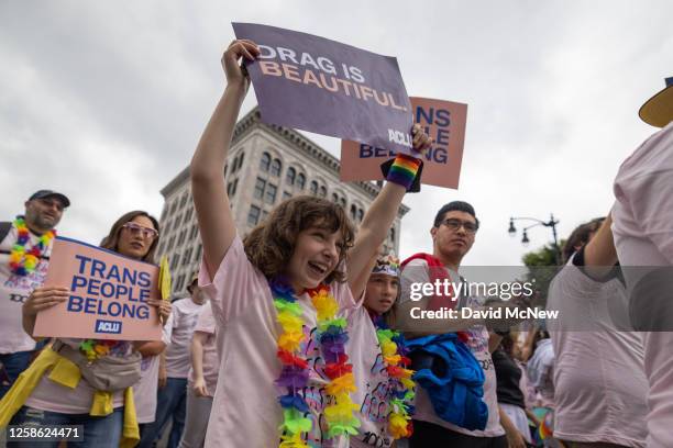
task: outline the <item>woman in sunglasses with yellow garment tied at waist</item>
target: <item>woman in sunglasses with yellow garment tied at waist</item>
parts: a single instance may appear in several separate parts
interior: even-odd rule
[[[146,212],[135,211],[112,225],[101,247],[152,262],[158,236],[157,221]],[[40,311],[63,303],[68,295],[68,288],[36,288],[23,304],[25,332],[33,333]],[[168,302],[150,299],[147,304],[156,306],[164,321],[168,318]],[[141,378],[139,349],[144,344],[147,343],[56,338],[0,402],[0,411],[4,413],[0,414],[0,426],[7,424],[7,414],[13,413],[10,410],[18,410],[11,417],[12,425],[84,425],[82,447],[115,448],[120,443],[132,444],[139,438],[132,385]],[[98,390],[90,384],[81,374],[84,367],[77,363],[81,359],[90,359],[101,372],[114,365],[114,376],[107,379],[113,384],[111,389]],[[8,446],[32,447],[34,443],[12,441]],[[56,447],[58,440],[44,446]]]

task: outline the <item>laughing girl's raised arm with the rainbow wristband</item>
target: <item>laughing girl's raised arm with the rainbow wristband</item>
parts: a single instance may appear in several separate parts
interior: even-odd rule
[[[422,154],[432,144],[432,138],[428,137],[418,124],[413,125],[411,132],[413,134],[413,147]],[[346,258],[349,287],[351,287],[351,293],[354,298],[360,298],[365,290],[371,272],[371,268],[367,271],[367,267],[388,235],[406,192],[407,190],[402,186],[386,182],[364,215],[357,229],[355,244]],[[363,270],[367,275],[363,275]]]

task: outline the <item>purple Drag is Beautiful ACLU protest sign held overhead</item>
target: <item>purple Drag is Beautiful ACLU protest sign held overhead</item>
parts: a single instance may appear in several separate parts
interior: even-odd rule
[[[247,64],[262,120],[409,153],[412,111],[397,59],[311,34],[233,23],[261,54]]]

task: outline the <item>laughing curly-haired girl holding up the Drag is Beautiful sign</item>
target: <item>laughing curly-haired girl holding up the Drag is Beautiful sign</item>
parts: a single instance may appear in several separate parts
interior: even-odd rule
[[[418,180],[421,160],[396,156],[356,238],[341,206],[297,197],[276,206],[243,242],[222,172],[250,86],[240,59],[257,55],[257,45],[246,40],[224,52],[227,88],[190,166],[203,240],[199,285],[224,341],[206,445],[347,447],[360,426],[360,403],[351,396],[360,357],[351,361],[345,352],[349,328],[340,316],[360,305],[354,298],[365,290],[365,270]],[[431,139],[419,125],[411,134],[420,157]]]

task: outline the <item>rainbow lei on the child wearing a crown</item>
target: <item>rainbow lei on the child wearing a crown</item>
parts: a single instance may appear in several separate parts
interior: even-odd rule
[[[407,358],[408,349],[405,337],[388,328],[380,316],[373,317],[376,326],[376,337],[380,346],[386,371],[388,372],[388,391],[393,397],[389,402],[388,432],[394,439],[411,436],[413,426],[413,397],[416,383],[411,379],[413,370],[407,369],[411,360]]]

